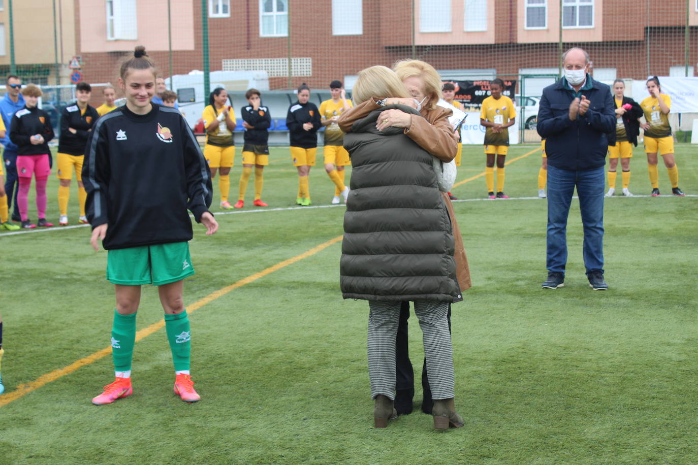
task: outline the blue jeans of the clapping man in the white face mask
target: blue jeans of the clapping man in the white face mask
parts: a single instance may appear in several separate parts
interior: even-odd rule
[[[584,225],[584,267],[604,271],[604,167],[567,171],[548,165],[547,268],[565,273],[567,216],[577,187],[581,223]]]

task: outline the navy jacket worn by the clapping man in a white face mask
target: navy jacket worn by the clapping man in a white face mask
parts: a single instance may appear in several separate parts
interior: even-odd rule
[[[545,140],[548,165],[570,171],[586,171],[606,164],[607,135],[616,130],[616,105],[606,84],[586,75],[579,95],[591,101],[586,113],[570,119],[572,91],[565,78],[543,89],[538,107],[538,134]]]

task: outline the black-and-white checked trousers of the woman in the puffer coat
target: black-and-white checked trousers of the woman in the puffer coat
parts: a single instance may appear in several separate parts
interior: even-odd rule
[[[395,337],[400,302],[369,300],[369,378],[371,398],[382,394],[395,399]],[[448,330],[448,303],[416,300],[415,315],[422,328],[426,374],[435,400],[454,397],[453,350]]]

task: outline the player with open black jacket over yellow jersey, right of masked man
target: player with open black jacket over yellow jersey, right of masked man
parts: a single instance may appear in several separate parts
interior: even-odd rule
[[[623,169],[623,195],[632,197],[630,190],[628,190],[630,158],[632,158],[632,146],[637,147],[637,136],[640,134],[640,123],[637,120],[642,116],[642,108],[632,98],[623,96],[623,92],[625,92],[623,79],[614,81],[613,92],[616,103],[616,130],[609,135],[609,190],[606,197],[612,197],[616,192],[618,158],[621,158],[621,168]]]

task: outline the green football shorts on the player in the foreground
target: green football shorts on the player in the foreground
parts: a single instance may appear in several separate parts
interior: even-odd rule
[[[107,252],[107,280],[112,284],[161,286],[193,274],[187,242],[143,245]]]

